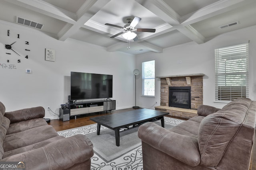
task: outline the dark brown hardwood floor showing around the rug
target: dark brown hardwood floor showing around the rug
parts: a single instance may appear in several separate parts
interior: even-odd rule
[[[94,124],[95,122],[91,121],[90,117],[96,117],[96,116],[114,114],[114,113],[121,113],[124,111],[130,111],[130,110],[134,110],[134,108],[112,110],[111,113],[110,113],[110,111],[108,111],[107,113],[101,112],[101,113],[80,115],[80,116],[77,116],[76,119],[74,119],[74,117],[71,117],[69,121],[61,121],[60,119],[54,119],[54,120],[51,120],[50,123],[48,123],[48,124],[52,125],[52,127],[54,127],[54,129],[56,131],[63,131],[66,129],[72,129],[72,128],[76,128],[76,127],[80,127],[80,126]],[[169,116],[169,117],[173,117],[173,116]],[[174,117],[174,118],[182,119],[180,117]],[[184,119],[184,120],[186,120],[186,119]],[[256,136],[255,136],[254,141],[256,141]],[[256,156],[254,156],[256,154],[256,146],[255,145],[252,150],[253,150],[253,152],[252,152],[252,158],[251,158],[251,162],[250,162],[250,170],[256,170]]]

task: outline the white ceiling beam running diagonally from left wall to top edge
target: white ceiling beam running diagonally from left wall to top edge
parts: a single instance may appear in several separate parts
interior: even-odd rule
[[[90,18],[92,18],[92,16],[94,16],[109,1],[110,0],[87,0],[76,12],[78,17],[76,23],[73,25],[67,23],[58,33],[59,40],[65,41],[80,27],[82,27],[86,21],[90,20]]]

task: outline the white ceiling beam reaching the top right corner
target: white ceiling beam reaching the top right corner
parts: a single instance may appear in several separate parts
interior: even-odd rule
[[[254,2],[254,0],[220,0],[216,3],[210,4],[200,10],[182,16],[180,18],[181,25],[190,25],[198,21],[202,21],[218,14],[228,12],[230,10],[246,5],[247,3]]]

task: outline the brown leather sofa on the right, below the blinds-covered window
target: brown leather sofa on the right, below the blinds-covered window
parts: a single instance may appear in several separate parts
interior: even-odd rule
[[[254,144],[256,102],[236,99],[222,109],[202,105],[198,116],[164,129],[138,129],[144,170],[248,170]]]

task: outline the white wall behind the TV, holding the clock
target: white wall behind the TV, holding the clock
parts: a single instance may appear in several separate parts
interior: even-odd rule
[[[17,34],[20,34],[20,39]],[[8,50],[4,49],[4,45],[14,41],[17,42],[12,48],[23,57],[6,54]],[[24,46],[24,41],[30,44]],[[56,51],[55,62],[45,61],[45,48]],[[24,59],[25,53],[29,54],[29,59]],[[6,62],[7,59],[10,63]],[[21,59],[21,63],[17,63],[17,59]],[[0,22],[0,64],[0,101],[6,106],[6,111],[42,106],[46,110],[46,118],[58,118],[46,108],[50,106],[59,114],[60,104],[68,101],[71,71],[112,74],[112,99],[116,100],[116,109],[134,105],[133,55],[107,52],[103,47],[73,39],[58,41],[35,29]],[[4,68],[4,64],[15,64],[16,69]],[[25,73],[26,68],[32,73]]]

